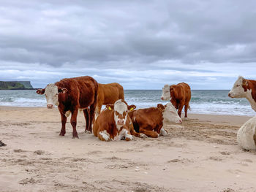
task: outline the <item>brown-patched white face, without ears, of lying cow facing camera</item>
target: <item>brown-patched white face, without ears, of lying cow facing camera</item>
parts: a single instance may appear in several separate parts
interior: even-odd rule
[[[121,99],[114,104],[114,120],[116,122],[116,127],[119,129],[121,126],[127,122],[128,107]]]

